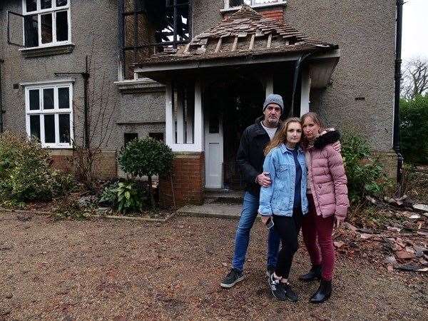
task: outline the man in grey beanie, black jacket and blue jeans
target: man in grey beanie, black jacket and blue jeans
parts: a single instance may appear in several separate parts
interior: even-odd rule
[[[235,254],[232,269],[220,283],[222,287],[233,287],[244,279],[243,266],[250,230],[258,214],[260,186],[270,185],[268,173],[263,173],[263,153],[265,146],[275,136],[280,124],[280,116],[284,111],[284,103],[280,95],[270,94],[263,103],[263,116],[245,128],[241,137],[236,161],[245,177],[246,187],[238,229],[235,235]],[[267,274],[275,270],[280,238],[275,229],[269,230],[267,242]]]

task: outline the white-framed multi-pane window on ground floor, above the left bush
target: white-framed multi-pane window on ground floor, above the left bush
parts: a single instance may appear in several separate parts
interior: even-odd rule
[[[26,86],[26,131],[42,146],[71,148],[73,139],[73,86],[71,83]]]

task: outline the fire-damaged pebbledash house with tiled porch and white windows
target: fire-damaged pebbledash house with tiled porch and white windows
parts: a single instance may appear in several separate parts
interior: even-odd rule
[[[285,116],[316,111],[365,136],[389,168],[392,0],[4,0],[0,128],[40,138],[56,165],[96,145],[98,174],[152,136],[175,152],[161,199],[239,189],[243,129],[280,93]]]

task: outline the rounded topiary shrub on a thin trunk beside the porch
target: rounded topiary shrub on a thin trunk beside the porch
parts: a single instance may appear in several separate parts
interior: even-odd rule
[[[119,154],[123,171],[133,178],[148,177],[148,192],[152,207],[155,205],[152,190],[153,175],[168,175],[173,165],[173,151],[153,138],[134,139]]]

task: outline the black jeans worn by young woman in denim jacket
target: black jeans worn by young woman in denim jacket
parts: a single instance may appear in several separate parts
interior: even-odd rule
[[[273,228],[277,230],[281,238],[281,250],[278,253],[277,267],[275,274],[288,278],[292,265],[292,258],[299,248],[299,232],[302,227],[302,209],[295,208],[292,217],[273,215]]]

